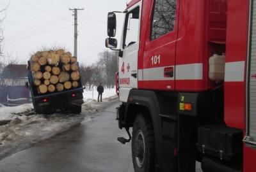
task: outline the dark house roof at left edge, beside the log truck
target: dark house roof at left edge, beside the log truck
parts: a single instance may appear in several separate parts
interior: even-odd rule
[[[26,64],[9,64],[2,73],[3,78],[24,78],[28,77]]]

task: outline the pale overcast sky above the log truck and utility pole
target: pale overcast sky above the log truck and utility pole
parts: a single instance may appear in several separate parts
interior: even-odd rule
[[[124,11],[130,0],[1,0],[0,26],[4,29],[4,54],[26,64],[42,47],[65,47],[74,54],[74,11],[77,10],[77,58],[92,64],[104,50],[109,11]],[[10,3],[8,5],[8,3]],[[122,24],[118,25],[119,30]]]

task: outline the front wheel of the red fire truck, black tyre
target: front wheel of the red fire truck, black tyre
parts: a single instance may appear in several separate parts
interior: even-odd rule
[[[155,171],[155,138],[150,118],[137,115],[132,128],[132,162],[134,171]]]

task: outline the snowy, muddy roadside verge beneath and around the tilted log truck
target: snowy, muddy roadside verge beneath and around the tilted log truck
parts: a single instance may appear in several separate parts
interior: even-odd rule
[[[104,89],[102,101],[97,102],[97,90],[84,90],[84,104],[80,115],[68,112],[54,113],[49,116],[29,114],[33,104],[14,107],[0,107],[0,159],[15,152],[31,147],[70,127],[92,120],[93,113],[104,111],[111,101],[118,101],[115,89]]]

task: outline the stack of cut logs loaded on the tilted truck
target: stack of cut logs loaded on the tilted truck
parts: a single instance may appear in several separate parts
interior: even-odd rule
[[[65,53],[62,49],[36,52],[30,64],[33,84],[40,94],[79,86],[77,57],[72,57],[70,52]]]

